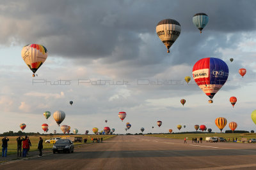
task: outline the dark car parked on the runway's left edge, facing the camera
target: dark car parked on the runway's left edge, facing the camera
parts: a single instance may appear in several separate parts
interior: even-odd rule
[[[72,141],[70,141],[70,139],[58,139],[58,141],[56,141],[56,143],[53,145],[52,147],[52,152],[56,153],[56,152],[74,152],[74,144],[72,143]]]

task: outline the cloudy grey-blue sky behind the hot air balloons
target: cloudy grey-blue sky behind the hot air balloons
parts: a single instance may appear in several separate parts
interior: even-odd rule
[[[255,8],[255,1],[1,1],[0,133],[17,132],[22,123],[25,132],[43,132],[44,123],[49,132],[61,132],[52,117],[43,116],[56,110],[66,113],[62,125],[79,133],[105,126],[124,133],[126,122],[132,133],[140,127],[178,132],[178,124],[186,125],[180,131],[204,124],[219,132],[217,117],[237,122],[237,130],[256,130],[250,117],[256,103]],[[202,34],[192,22],[199,12],[209,15]],[[156,34],[165,18],[181,25],[171,53]],[[29,43],[48,50],[35,78],[20,55]],[[184,81],[205,57],[224,60],[230,70],[213,104],[194,80]],[[234,108],[231,96],[237,97]],[[127,113],[124,122],[119,111]]]

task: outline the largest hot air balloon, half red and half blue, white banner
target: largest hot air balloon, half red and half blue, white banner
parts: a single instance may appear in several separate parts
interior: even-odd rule
[[[212,103],[212,97],[228,79],[228,66],[221,59],[200,59],[193,67],[193,78],[198,87],[210,97],[209,103]]]

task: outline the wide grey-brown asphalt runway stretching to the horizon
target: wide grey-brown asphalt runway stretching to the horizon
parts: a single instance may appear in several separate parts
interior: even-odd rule
[[[254,143],[187,142],[122,135],[74,153],[12,160],[0,169],[256,169]]]

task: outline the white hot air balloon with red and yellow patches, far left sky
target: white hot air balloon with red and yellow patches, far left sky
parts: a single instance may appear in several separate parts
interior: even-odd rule
[[[21,57],[35,76],[37,69],[47,59],[47,49],[42,45],[29,44],[22,48]]]

